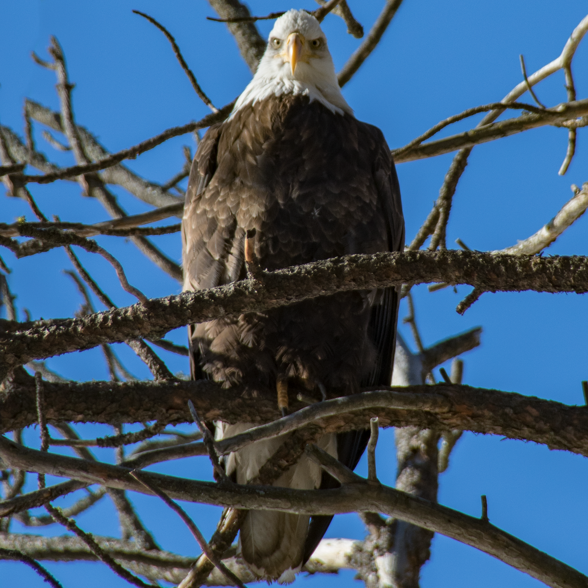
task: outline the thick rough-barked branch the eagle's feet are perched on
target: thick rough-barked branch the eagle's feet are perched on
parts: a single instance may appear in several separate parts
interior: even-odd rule
[[[28,376],[29,380],[32,380]],[[208,380],[178,382],[85,382],[68,384],[44,382],[45,416],[51,422],[190,422],[186,403],[192,399],[203,420],[223,422],[252,422],[262,425],[279,418],[273,395],[246,399],[239,389],[223,390]],[[470,386],[447,385],[397,387],[366,391],[345,399],[326,401],[326,408],[307,407],[294,403],[298,410],[286,417],[286,423],[300,426],[312,422],[323,433],[344,432],[368,427],[369,418],[378,416],[380,425],[436,427],[440,430],[464,429],[477,433],[492,433],[510,439],[525,439],[542,443],[551,449],[562,449],[588,456],[588,414],[583,407],[566,406],[558,402]],[[370,395],[377,398],[370,406]],[[414,399],[416,405],[410,400]],[[355,404],[358,402],[358,404]],[[340,411],[336,407],[340,407]],[[399,408],[402,406],[402,408]],[[437,407],[437,409],[435,409]],[[308,410],[310,409],[310,410]],[[332,412],[331,412],[332,410]],[[352,410],[353,412],[346,412]],[[324,412],[322,412],[324,411]],[[328,415],[332,416],[325,416]],[[0,401],[2,432],[24,428],[36,422],[34,383],[5,384]],[[306,420],[306,415],[320,420]],[[317,417],[318,418],[318,417]],[[278,432],[283,421],[272,423],[264,430]],[[295,427],[290,429],[295,430]],[[302,430],[302,429],[300,429]],[[256,435],[258,433],[255,433]],[[269,433],[268,433],[269,435]],[[260,437],[263,438],[263,437]],[[233,443],[231,440],[230,443]],[[205,455],[196,444],[180,446],[186,455]],[[174,448],[175,449],[175,448]],[[229,446],[223,449],[230,449]],[[189,451],[194,450],[193,453]],[[129,458],[133,467],[141,467]],[[140,459],[140,456],[138,456]],[[167,457],[165,459],[171,459]]]

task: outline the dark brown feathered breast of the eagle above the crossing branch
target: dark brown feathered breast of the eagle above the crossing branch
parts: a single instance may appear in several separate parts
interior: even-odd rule
[[[376,145],[365,126],[306,96],[240,108],[222,125],[216,172],[196,211],[218,223],[219,234],[205,235],[209,253],[222,258],[221,241],[253,228],[255,253],[268,269],[386,249],[372,173]]]

